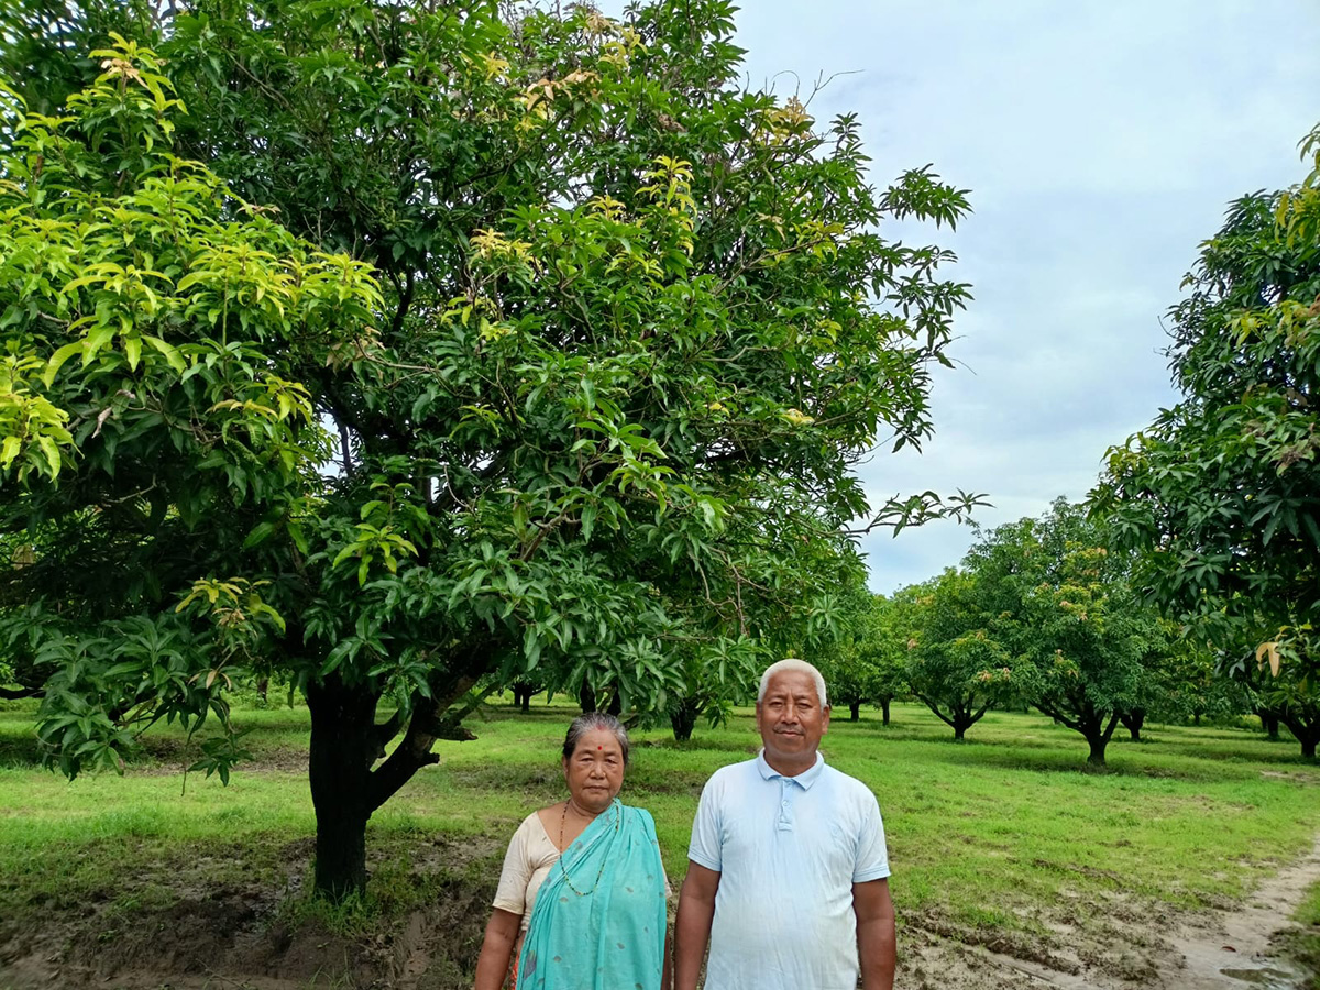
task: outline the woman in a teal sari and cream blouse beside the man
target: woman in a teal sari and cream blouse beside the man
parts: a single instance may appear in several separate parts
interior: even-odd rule
[[[569,797],[528,814],[508,843],[475,990],[506,975],[510,990],[668,987],[668,882],[651,813],[619,801],[627,766],[619,719],[573,719]]]

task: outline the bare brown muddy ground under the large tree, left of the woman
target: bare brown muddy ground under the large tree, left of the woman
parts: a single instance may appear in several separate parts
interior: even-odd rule
[[[426,891],[425,903],[387,906],[347,931],[298,909],[305,842],[286,850],[282,884],[222,883],[201,892],[181,878],[149,906],[92,898],[55,920],[0,920],[0,987],[469,990],[500,847],[486,840],[413,845],[409,880]],[[381,862],[391,853],[397,850],[368,867],[397,870]],[[153,878],[157,887],[162,880]]]

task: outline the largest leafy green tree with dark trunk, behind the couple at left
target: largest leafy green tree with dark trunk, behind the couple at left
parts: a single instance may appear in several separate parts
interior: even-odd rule
[[[350,7],[181,4],[189,116],[124,45],[0,161],[0,520],[32,540],[0,623],[50,623],[42,738],[115,766],[275,665],[333,898],[480,678],[661,708],[689,656],[805,635],[851,520],[970,502],[873,508],[853,473],[929,433],[968,294],[878,227],[965,195],[875,189],[853,116],[739,88],[730,4]]]

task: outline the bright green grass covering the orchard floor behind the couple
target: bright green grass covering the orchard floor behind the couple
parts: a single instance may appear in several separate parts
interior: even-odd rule
[[[470,721],[475,742],[441,743],[441,764],[372,820],[374,900],[359,909],[408,909],[454,880],[441,871],[416,883],[418,847],[441,858],[445,849],[478,850],[459,873],[496,869],[517,821],[562,797],[557,751],[573,714],[536,702],[524,717],[494,705]],[[0,912],[15,919],[110,898],[127,917],[219,878],[288,891],[280,909],[293,909],[314,830],[306,711],[239,718],[257,760],[223,788],[201,775],[185,785],[180,771],[193,758],[169,733],[149,737],[147,758],[123,779],[66,783],[33,763],[30,709],[0,711]],[[879,797],[900,924],[939,919],[956,931],[1047,939],[1069,906],[1115,896],[1228,907],[1309,847],[1320,768],[1291,742],[1209,727],[1146,734],[1143,743],[1115,737],[1109,772],[1090,774],[1081,737],[1047,718],[994,713],[954,743],[924,708],[895,705],[890,726],[874,711],[837,719],[822,751]],[[655,814],[677,884],[702,784],[754,754],[758,737],[743,710],[719,730],[698,727],[688,744],[661,729],[634,738],[624,799]],[[1308,909],[1320,912],[1320,902]]]

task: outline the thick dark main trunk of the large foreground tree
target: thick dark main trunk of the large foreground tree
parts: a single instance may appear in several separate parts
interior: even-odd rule
[[[308,779],[317,812],[315,888],[334,902],[367,886],[371,764],[380,755],[378,697],[338,677],[308,686]]]

